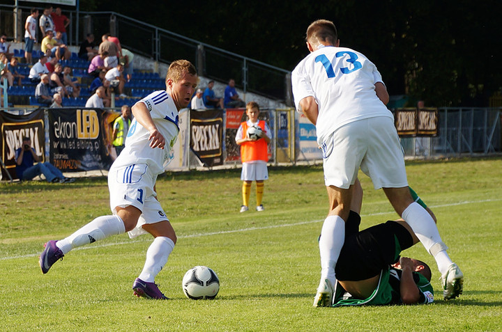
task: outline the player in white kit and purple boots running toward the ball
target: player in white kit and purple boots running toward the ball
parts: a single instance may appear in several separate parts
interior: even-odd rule
[[[47,242],[39,260],[44,274],[73,248],[124,232],[130,237],[148,232],[155,239],[132,290],[137,297],[167,299],[154,279],[176,244],[176,232],[156,199],[155,180],[169,164],[179,132],[178,111],[190,104],[196,86],[197,70],[192,63],[174,61],[167,70],[166,90],[155,91],[132,106],[134,120],[126,147],[108,173],[113,214],[94,219],[61,241]]]

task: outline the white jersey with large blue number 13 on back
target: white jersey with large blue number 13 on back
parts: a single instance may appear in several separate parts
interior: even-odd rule
[[[313,96],[319,108],[317,142],[349,122],[388,116],[374,84],[382,82],[377,67],[363,54],[347,47],[326,46],[306,56],[291,73],[296,109]]]

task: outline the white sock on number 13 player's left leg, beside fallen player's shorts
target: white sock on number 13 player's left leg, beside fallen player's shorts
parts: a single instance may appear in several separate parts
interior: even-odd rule
[[[340,216],[328,216],[324,219],[319,239],[321,255],[321,280],[327,278],[335,285],[335,265],[345,241],[345,221]]]

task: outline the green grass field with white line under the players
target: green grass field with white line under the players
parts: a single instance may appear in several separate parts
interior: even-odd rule
[[[75,249],[43,275],[43,243],[109,214],[105,178],[73,184],[0,184],[2,331],[499,331],[502,322],[502,158],[408,162],[409,183],[432,207],[464,294],[443,301],[434,260],[429,306],[313,308],[317,236],[327,212],[319,166],[269,168],[265,212],[240,214],[240,170],[167,173],[158,196],[178,243],[156,278],[170,301],[132,296],[151,237],[109,237]],[[370,180],[362,228],[397,216]],[[254,191],[254,184],[252,187]],[[252,192],[251,203],[254,201]],[[181,279],[207,265],[213,301],[185,298]]]

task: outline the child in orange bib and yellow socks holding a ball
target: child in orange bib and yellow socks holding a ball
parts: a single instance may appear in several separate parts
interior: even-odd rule
[[[257,193],[257,211],[264,210],[261,204],[264,193],[264,180],[268,180],[268,148],[267,144],[271,142],[271,130],[264,120],[258,120],[259,106],[256,102],[248,102],[246,105],[246,115],[248,121],[242,122],[237,130],[236,143],[241,145],[241,160],[242,160],[242,173],[241,180],[243,180],[243,205],[241,212],[248,211],[249,199],[251,194],[251,184],[256,181]],[[250,139],[248,135],[248,128],[259,127],[258,139]]]

